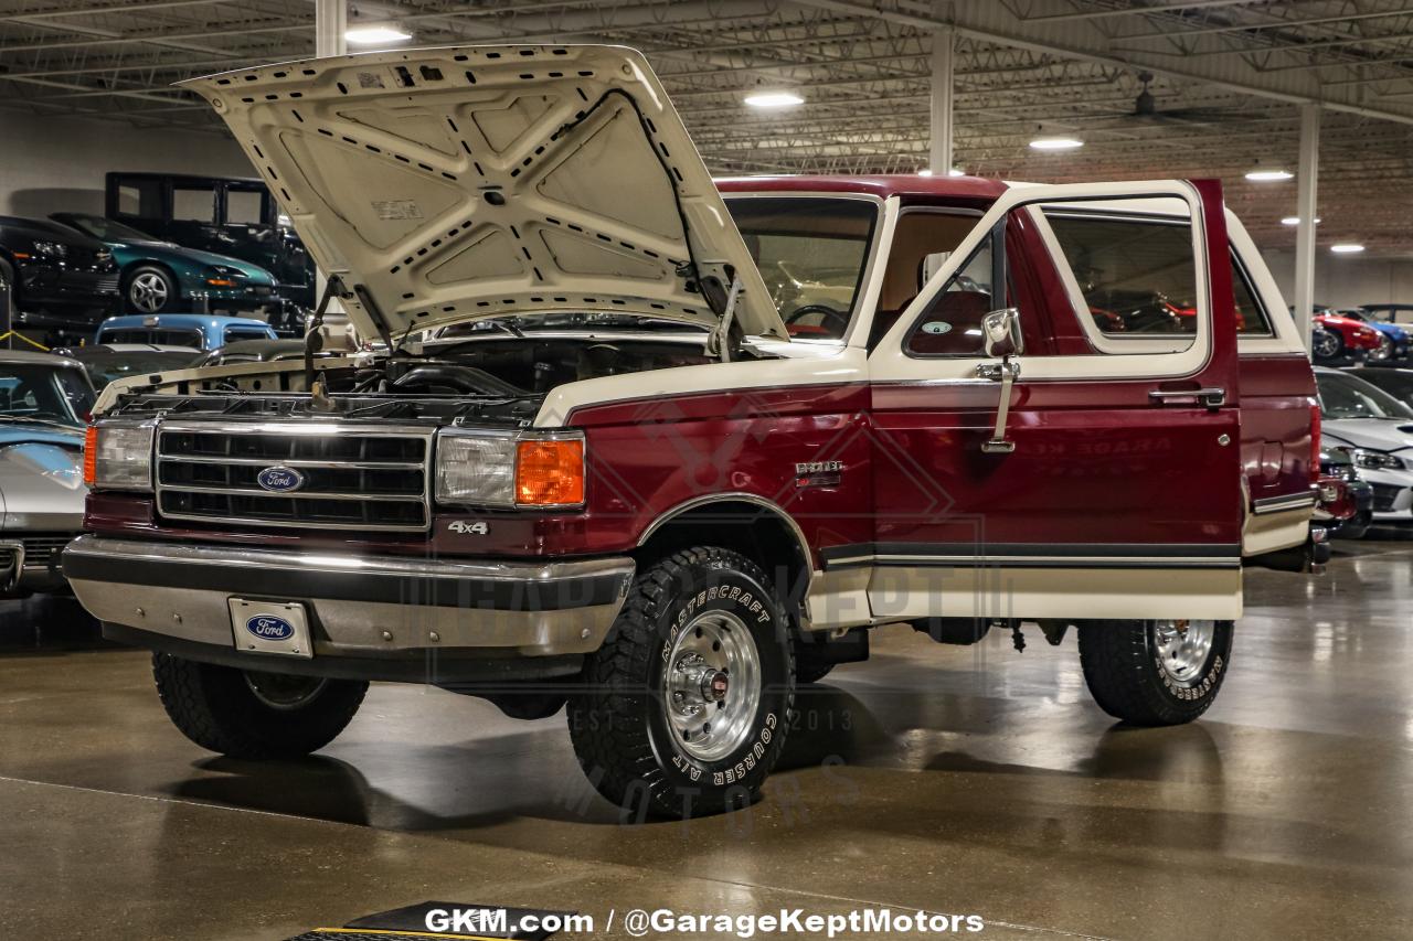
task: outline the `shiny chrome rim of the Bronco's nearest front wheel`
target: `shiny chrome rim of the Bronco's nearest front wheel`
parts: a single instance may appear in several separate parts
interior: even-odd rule
[[[732,754],[755,730],[760,651],[735,615],[698,615],[663,664],[663,709],[677,746],[701,762]]]

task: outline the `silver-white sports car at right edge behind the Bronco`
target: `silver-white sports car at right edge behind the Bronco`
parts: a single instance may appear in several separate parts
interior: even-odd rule
[[[1316,369],[1321,444],[1351,451],[1376,521],[1413,520],[1413,408],[1356,376]]]

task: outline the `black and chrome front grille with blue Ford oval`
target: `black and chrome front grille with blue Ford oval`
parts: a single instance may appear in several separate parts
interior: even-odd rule
[[[431,519],[430,456],[431,431],[162,425],[157,437],[157,507],[172,520],[425,530]],[[274,468],[302,478],[298,487],[261,485],[261,472]]]

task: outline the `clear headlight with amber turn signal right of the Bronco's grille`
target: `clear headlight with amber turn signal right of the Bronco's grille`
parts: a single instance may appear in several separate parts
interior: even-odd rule
[[[492,507],[584,504],[584,435],[437,435],[437,502]]]

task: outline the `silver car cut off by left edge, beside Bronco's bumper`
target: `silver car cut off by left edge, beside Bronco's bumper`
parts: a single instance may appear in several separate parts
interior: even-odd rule
[[[0,349],[0,598],[65,586],[59,552],[83,528],[83,366]]]

